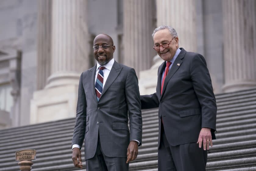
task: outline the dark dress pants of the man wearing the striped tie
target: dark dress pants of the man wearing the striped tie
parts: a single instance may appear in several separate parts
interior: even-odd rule
[[[86,160],[87,171],[128,171],[129,164],[126,164],[126,157],[108,157],[101,149],[100,137],[96,153],[93,158]]]

